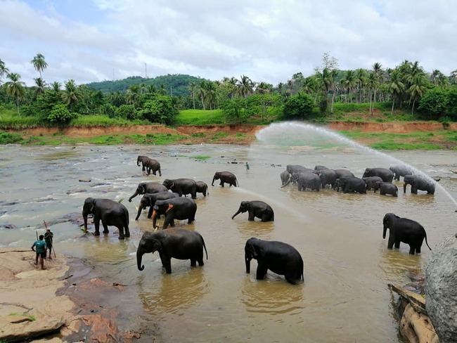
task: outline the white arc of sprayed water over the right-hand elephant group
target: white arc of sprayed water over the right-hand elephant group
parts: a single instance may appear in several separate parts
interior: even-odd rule
[[[306,145],[306,143],[309,141],[313,141],[314,143],[324,145],[325,142],[328,141],[328,139],[330,138],[330,140],[336,141],[340,144],[343,143],[352,148],[357,148],[371,154],[379,155],[380,157],[386,160],[390,160],[390,162],[394,164],[407,166],[411,170],[413,170],[414,174],[423,176],[428,181],[435,183],[435,187],[439,188],[439,190],[446,194],[446,196],[457,207],[457,202],[454,198],[452,198],[451,194],[449,194],[447,190],[445,190],[441,185],[439,185],[439,183],[435,182],[434,179],[425,174],[423,171],[420,171],[416,167],[411,166],[411,164],[407,164],[391,155],[381,153],[378,150],[368,148],[368,146],[366,145],[354,142],[351,139],[346,138],[345,136],[337,134],[335,131],[331,131],[328,129],[324,129],[322,127],[316,127],[315,125],[305,124],[301,122],[281,122],[270,124],[268,127],[257,132],[256,137],[259,141],[269,142],[276,145],[289,146]]]

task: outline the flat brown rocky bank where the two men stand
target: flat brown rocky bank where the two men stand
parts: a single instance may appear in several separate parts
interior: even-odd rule
[[[117,309],[100,295],[117,297],[124,286],[108,283],[79,259],[56,254],[46,270],[34,265],[27,248],[1,248],[0,341],[131,342],[136,331],[117,323]],[[51,340],[49,340],[51,339]],[[37,341],[34,341],[37,342]]]

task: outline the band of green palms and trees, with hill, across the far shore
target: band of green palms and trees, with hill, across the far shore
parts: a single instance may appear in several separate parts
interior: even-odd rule
[[[448,76],[439,70],[429,73],[408,60],[394,69],[374,63],[371,70],[340,70],[337,59],[324,53],[312,75],[298,72],[276,86],[246,75],[219,81],[190,75],[128,77],[80,85],[69,79],[62,85],[45,81],[48,64],[41,53],[30,63],[39,77],[33,86],[25,86],[20,74],[0,59],[0,110],[14,108],[18,117],[37,117],[43,124],[68,124],[85,115],[173,124],[179,110],[186,109],[222,110],[236,123],[252,117],[262,122],[325,119],[335,103],[364,103],[370,113],[375,103],[389,103],[391,113],[408,110],[418,119],[457,119],[457,70]]]

